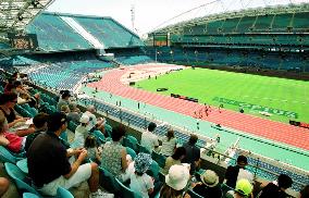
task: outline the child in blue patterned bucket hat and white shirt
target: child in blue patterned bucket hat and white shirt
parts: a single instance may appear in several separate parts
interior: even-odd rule
[[[148,198],[153,193],[153,178],[146,173],[151,163],[151,156],[143,152],[134,160],[135,173],[131,175],[129,188],[143,198]]]

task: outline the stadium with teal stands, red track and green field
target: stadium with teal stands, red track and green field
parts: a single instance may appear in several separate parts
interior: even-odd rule
[[[291,197],[308,186],[307,2],[243,5],[191,16],[222,3],[212,1],[165,21],[147,38],[112,16],[47,11],[52,2],[0,2],[1,95],[8,95],[9,79],[16,72],[30,87],[27,92],[39,95],[40,106],[16,101],[14,111],[20,116],[59,112],[61,91],[67,90],[82,113],[94,106],[96,116],[104,117],[109,127],[126,128],[122,145],[132,158],[151,153],[158,166],[151,166],[153,180],[166,181],[162,175],[166,156],[143,147],[140,139],[149,123],[158,125],[152,133],[160,141],[173,131],[177,147],[193,134],[198,136],[200,169],[193,177],[211,169],[226,189],[226,168],[245,156],[246,169],[254,175],[254,197],[262,190],[261,183],[281,174],[293,180],[285,191]],[[70,121],[60,136],[69,149],[76,148],[73,139],[79,124]],[[104,132],[89,134],[101,145],[110,144],[114,131]],[[10,181],[3,197],[45,196],[32,185],[28,153],[0,145],[0,175]],[[99,188],[115,197],[144,197],[108,176],[101,160]],[[70,188],[71,193],[60,187],[64,193],[59,188],[55,197],[89,197],[87,184]],[[202,197],[190,188],[187,193]],[[160,197],[160,189],[152,197]]]

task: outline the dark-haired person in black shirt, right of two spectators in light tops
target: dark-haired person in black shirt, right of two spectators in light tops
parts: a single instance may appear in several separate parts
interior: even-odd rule
[[[200,163],[200,149],[196,146],[197,140],[197,135],[191,134],[188,143],[184,144],[183,146],[186,149],[186,156],[182,162],[190,164],[191,175],[198,169]]]

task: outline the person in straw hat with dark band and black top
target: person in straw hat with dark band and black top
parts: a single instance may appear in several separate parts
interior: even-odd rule
[[[221,198],[222,190],[219,184],[219,176],[214,171],[206,170],[200,175],[201,183],[197,183],[193,190],[202,197]]]

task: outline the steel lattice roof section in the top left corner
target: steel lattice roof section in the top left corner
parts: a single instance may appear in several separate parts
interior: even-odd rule
[[[0,33],[18,32],[53,0],[1,0]]]

